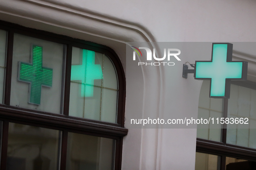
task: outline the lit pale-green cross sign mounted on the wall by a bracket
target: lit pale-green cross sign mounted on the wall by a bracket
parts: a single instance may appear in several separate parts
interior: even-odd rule
[[[195,79],[210,79],[210,98],[230,98],[230,80],[246,80],[246,61],[232,61],[233,44],[213,43],[211,61],[195,62]]]

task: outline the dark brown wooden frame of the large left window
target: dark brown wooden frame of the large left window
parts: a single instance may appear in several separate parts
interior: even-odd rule
[[[64,35],[57,35],[47,31],[26,28],[10,22],[0,21],[0,29],[7,31],[6,43],[6,72],[5,72],[5,91],[3,104],[0,104],[0,120],[2,123],[1,136],[1,170],[6,170],[8,128],[9,122],[21,123],[31,126],[40,126],[62,131],[62,142],[60,154],[60,170],[66,169],[66,151],[68,132],[81,133],[115,139],[115,159],[114,169],[121,169],[123,136],[127,135],[128,129],[124,128],[124,112],[126,98],[126,81],[122,63],[117,54],[109,47],[95,44],[92,42],[70,38]],[[14,33],[26,35],[33,38],[39,38],[46,41],[52,41],[64,44],[65,48],[65,73],[63,74],[62,103],[63,114],[55,114],[38,110],[30,110],[20,107],[10,106],[12,57],[13,57],[13,35]],[[113,62],[117,72],[118,79],[118,100],[117,100],[117,123],[108,123],[98,120],[68,116],[69,111],[69,93],[71,77],[71,54],[72,47],[80,47],[87,50],[93,50],[106,54]]]

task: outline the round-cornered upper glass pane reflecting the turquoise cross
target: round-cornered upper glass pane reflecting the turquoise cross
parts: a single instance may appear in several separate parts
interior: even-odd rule
[[[104,54],[73,47],[69,116],[116,123],[117,75]]]

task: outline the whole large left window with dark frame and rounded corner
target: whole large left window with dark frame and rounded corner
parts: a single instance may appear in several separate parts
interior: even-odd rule
[[[0,168],[120,169],[125,88],[109,47],[0,22]]]

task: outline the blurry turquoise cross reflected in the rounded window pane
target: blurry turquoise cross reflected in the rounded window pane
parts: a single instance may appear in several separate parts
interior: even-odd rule
[[[81,97],[92,97],[94,79],[103,79],[100,64],[95,64],[95,52],[82,50],[82,64],[71,66],[71,81],[81,81]]]

